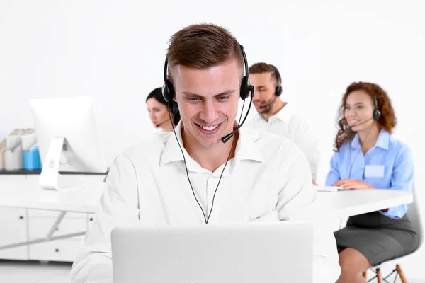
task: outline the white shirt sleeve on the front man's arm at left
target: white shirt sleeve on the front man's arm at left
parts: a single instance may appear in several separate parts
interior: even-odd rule
[[[125,154],[115,159],[108,173],[93,226],[72,265],[70,282],[113,282],[111,231],[116,226],[140,226],[135,168]]]

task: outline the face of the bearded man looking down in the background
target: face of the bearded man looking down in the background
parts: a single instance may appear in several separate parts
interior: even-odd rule
[[[249,82],[255,88],[254,100],[252,101],[256,110],[260,113],[269,112],[274,105],[271,102],[276,98],[276,79],[273,72],[249,74]]]

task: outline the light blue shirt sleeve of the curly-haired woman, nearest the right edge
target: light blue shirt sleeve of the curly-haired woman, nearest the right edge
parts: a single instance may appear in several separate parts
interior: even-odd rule
[[[399,151],[394,167],[392,168],[391,187],[389,189],[412,192],[413,186],[413,154],[408,146],[404,146],[402,150]],[[409,204],[402,204],[398,207],[390,207],[386,212],[380,211],[380,213],[392,219],[399,219],[406,214],[408,209]]]

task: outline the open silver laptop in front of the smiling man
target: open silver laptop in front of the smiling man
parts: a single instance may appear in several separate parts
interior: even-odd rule
[[[118,227],[116,283],[312,282],[312,226],[305,221]]]

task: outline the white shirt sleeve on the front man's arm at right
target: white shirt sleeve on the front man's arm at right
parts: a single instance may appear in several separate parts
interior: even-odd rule
[[[276,210],[280,220],[296,218],[294,211],[302,210],[314,202],[316,190],[311,181],[310,166],[300,149],[294,146],[293,163],[283,175],[283,189],[278,194]],[[278,152],[278,154],[280,154]],[[288,160],[287,158],[281,158]],[[288,164],[281,165],[288,168]],[[301,209],[300,209],[301,208]],[[339,267],[338,250],[334,233],[330,227],[321,223],[312,223],[313,227],[313,283],[336,282],[341,274]]]

